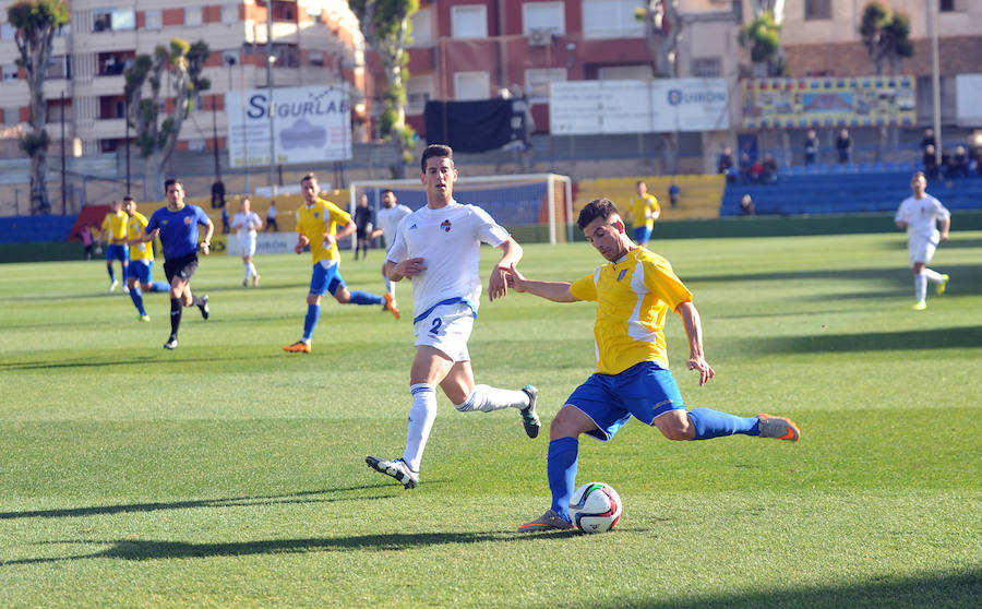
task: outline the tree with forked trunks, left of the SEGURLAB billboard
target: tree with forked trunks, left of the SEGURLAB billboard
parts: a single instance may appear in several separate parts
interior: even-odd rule
[[[146,159],[149,193],[158,201],[164,199],[164,165],[170,159],[181,126],[194,109],[197,94],[212,86],[201,75],[209,55],[212,51],[203,40],[190,45],[181,38],[171,38],[169,46],[159,45],[153,56],[136,56],[133,65],[123,73],[127,120],[136,133],[140,156]],[[169,89],[173,95],[171,115],[167,115],[161,97],[165,75],[169,76]],[[147,82],[151,96],[143,97]]]

